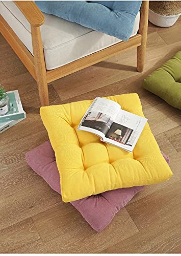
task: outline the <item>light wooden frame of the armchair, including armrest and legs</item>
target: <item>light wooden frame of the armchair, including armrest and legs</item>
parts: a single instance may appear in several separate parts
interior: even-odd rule
[[[103,50],[92,53],[86,57],[72,61],[62,67],[46,70],[44,51],[40,26],[44,23],[45,17],[34,2],[14,1],[16,6],[27,18],[31,25],[33,55],[24,46],[19,37],[15,34],[6,20],[0,15],[0,31],[8,41],[17,56],[21,59],[24,66],[37,81],[39,97],[42,106],[49,104],[48,86],[49,82],[61,77],[94,65],[106,58],[119,54],[133,47],[137,47],[137,71],[142,72],[145,60],[147,26],[148,26],[148,1],[143,1],[140,9],[140,23],[138,33],[128,41],[121,41]]]

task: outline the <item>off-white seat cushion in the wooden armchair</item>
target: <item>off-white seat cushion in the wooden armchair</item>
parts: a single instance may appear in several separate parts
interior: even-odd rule
[[[0,1],[0,10],[6,22],[33,54],[28,20],[12,1]],[[45,22],[40,29],[47,70],[64,66],[121,41],[116,37],[68,22],[54,15],[44,13],[44,16]],[[138,32],[139,21],[140,13],[136,17],[132,36]]]

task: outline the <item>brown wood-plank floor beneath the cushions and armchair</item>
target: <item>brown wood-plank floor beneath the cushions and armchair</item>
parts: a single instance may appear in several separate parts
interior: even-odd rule
[[[181,49],[181,19],[171,28],[149,24],[146,65],[136,72],[136,49],[49,84],[51,104],[123,93],[139,94],[143,112],[173,177],[144,188],[95,232],[26,164],[24,154],[48,139],[37,85],[0,35],[0,81],[19,90],[27,119],[0,135],[0,252],[181,252],[180,111],[142,88],[143,79]]]

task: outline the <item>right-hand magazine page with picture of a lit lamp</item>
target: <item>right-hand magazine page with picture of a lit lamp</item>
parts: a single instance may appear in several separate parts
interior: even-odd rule
[[[120,110],[102,141],[132,152],[146,122],[144,117]]]

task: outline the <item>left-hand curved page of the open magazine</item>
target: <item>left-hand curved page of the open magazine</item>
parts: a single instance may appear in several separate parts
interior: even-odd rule
[[[121,106],[112,100],[97,97],[81,120],[77,130],[91,132],[104,138]]]

